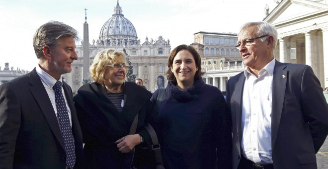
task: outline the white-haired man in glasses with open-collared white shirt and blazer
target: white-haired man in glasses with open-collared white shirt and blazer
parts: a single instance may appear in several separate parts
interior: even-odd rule
[[[317,169],[328,104],[312,68],[274,59],[277,30],[248,22],[239,35],[247,69],[227,84],[233,169]]]

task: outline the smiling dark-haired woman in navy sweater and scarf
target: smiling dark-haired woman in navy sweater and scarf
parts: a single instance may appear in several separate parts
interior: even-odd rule
[[[168,84],[157,132],[165,169],[231,169],[231,119],[222,92],[205,84],[198,52],[179,45],[169,54]],[[151,98],[156,103],[159,89]]]

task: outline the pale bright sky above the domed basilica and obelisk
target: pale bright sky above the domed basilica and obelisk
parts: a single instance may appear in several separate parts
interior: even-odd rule
[[[99,37],[102,25],[113,14],[117,0],[0,0],[0,67],[31,71],[38,63],[32,38],[35,30],[50,20],[64,22],[83,38],[84,8],[87,8],[89,40]],[[129,19],[144,42],[160,35],[169,39],[171,49],[193,43],[199,31],[234,32],[247,21],[264,18],[274,0],[119,0],[124,17]]]

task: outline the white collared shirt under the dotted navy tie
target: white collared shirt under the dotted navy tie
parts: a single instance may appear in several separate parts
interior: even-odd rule
[[[46,89],[46,91],[48,93],[49,99],[51,101],[52,107],[55,110],[56,117],[57,117],[57,120],[58,120],[58,123],[59,123],[59,119],[58,119],[58,115],[57,115],[56,101],[55,101],[55,90],[52,88],[56,84],[57,81],[56,81],[55,78],[53,78],[52,76],[47,74],[44,70],[42,70],[40,68],[40,65],[36,66],[35,70],[36,70],[36,73],[39,75],[39,77],[41,79],[41,82],[42,82],[44,88]],[[58,81],[63,83],[62,77],[59,78]],[[67,107],[67,110],[68,110],[68,114],[69,114],[69,118],[70,118],[71,126],[72,126],[71,109],[70,109],[70,106],[68,105],[63,86],[62,86],[62,92],[63,92],[63,96],[64,96],[64,99],[65,99],[66,107]]]

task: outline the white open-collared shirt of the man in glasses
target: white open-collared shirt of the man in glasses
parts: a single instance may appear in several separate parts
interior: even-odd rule
[[[269,62],[258,73],[258,78],[248,67],[244,71],[242,154],[256,164],[272,164],[271,110],[275,63],[275,59]]]

